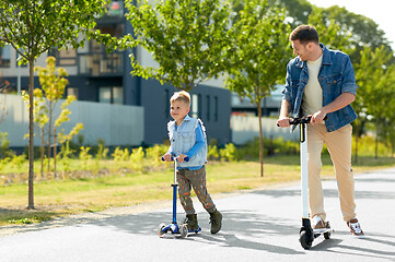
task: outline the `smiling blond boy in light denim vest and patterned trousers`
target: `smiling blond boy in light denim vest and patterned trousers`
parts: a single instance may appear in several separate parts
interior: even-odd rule
[[[197,215],[190,199],[191,186],[205,210],[210,214],[211,234],[217,234],[221,229],[222,215],[216,209],[206,187],[207,141],[205,127],[200,119],[188,116],[190,96],[187,92],[174,93],[170,103],[170,114],[174,121],[170,121],[167,124],[171,146],[163,158],[171,162],[172,156],[176,156],[178,160],[178,194],[186,213],[184,223],[187,224],[189,230],[198,229]],[[189,160],[185,162],[185,157],[188,157]]]

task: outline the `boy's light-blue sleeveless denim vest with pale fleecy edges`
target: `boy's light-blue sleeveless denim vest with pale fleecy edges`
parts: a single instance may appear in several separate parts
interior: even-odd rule
[[[175,129],[175,121],[167,123],[169,138],[171,142],[171,150],[174,155],[187,154],[188,151],[196,143],[195,129],[200,124],[205,134],[205,146],[193,156],[189,162],[183,162],[178,164],[178,167],[196,167],[202,166],[207,163],[207,141],[205,127],[200,119],[186,116],[177,130]]]

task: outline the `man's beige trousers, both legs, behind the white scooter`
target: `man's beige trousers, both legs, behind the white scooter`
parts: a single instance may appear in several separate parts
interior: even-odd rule
[[[327,132],[325,124],[307,124],[307,166],[310,215],[326,221],[324,194],[321,181],[321,153],[326,144],[335,167],[340,198],[340,209],[346,222],[356,217],[353,175],[351,169],[352,127],[347,124],[334,132]]]

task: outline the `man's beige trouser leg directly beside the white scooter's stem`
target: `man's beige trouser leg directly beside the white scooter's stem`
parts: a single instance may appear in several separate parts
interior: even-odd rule
[[[325,124],[307,124],[307,170],[309,170],[309,205],[310,215],[318,216],[325,222],[324,194],[321,181],[321,152],[324,146]],[[314,226],[314,225],[313,225]]]

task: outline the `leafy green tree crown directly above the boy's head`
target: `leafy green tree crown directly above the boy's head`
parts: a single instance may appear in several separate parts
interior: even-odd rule
[[[230,8],[220,0],[126,0],[135,40],[126,38],[130,48],[140,46],[152,55],[158,67],[141,66],[130,55],[132,75],[153,78],[178,90],[191,91],[199,83],[221,73],[225,68]]]

